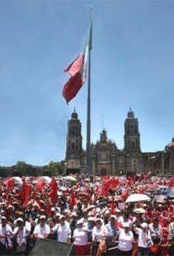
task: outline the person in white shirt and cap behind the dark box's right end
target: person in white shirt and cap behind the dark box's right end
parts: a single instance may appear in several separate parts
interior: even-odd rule
[[[71,229],[70,229],[70,223],[65,221],[65,216],[61,216],[59,218],[60,223],[56,224],[52,228],[52,232],[57,232],[57,239],[59,242],[62,243],[70,243],[71,239]]]

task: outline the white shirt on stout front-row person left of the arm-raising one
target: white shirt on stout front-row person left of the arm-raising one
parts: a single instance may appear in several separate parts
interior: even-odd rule
[[[120,235],[118,240],[118,249],[124,252],[132,250],[132,243],[134,242],[134,235],[132,231],[125,232],[125,229],[120,229]]]

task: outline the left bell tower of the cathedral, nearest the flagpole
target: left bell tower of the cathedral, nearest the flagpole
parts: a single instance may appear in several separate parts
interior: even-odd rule
[[[82,151],[81,122],[74,109],[71,119],[68,121],[68,135],[66,144],[66,158],[74,158]]]

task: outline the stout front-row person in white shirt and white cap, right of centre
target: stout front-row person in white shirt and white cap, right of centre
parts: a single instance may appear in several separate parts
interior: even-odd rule
[[[118,238],[118,255],[131,255],[134,243],[134,234],[130,231],[129,223],[122,224]]]

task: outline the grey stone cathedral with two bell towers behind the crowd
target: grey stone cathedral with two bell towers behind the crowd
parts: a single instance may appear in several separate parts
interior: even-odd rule
[[[164,151],[142,152],[139,121],[129,109],[125,119],[124,149],[118,149],[108,139],[106,130],[100,133],[100,140],[91,144],[92,174],[121,175],[127,172],[152,174],[174,174],[174,138]],[[82,148],[81,122],[74,110],[68,121],[65,156],[66,173],[86,173],[86,151]]]

